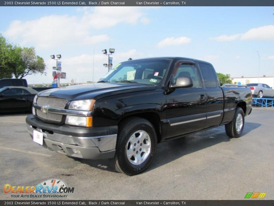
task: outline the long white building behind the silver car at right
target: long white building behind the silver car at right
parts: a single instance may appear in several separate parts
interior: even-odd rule
[[[263,83],[267,84],[268,86],[274,88],[274,77],[266,77],[265,75],[263,77],[260,77],[260,81],[258,77],[231,77],[233,84],[238,84],[238,82],[241,82],[241,84],[249,84],[249,83]]]

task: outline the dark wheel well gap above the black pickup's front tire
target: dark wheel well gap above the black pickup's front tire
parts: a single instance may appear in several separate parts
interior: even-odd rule
[[[144,113],[138,113],[138,114],[132,114],[132,115],[126,116],[118,122],[118,128],[119,128],[120,124],[122,124],[122,122],[124,122],[128,118],[132,118],[132,117],[141,117],[141,118],[144,118],[144,119],[150,121],[156,130],[158,142],[160,142],[160,140],[161,140],[161,124],[160,124],[160,117],[158,114],[156,114],[154,112],[144,112]]]

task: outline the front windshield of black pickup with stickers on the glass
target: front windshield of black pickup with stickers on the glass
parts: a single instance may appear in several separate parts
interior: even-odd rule
[[[140,60],[123,62],[110,70],[100,81],[159,85],[171,60]]]

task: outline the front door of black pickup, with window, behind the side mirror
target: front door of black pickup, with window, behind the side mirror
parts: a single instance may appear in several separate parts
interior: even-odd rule
[[[206,124],[206,94],[196,65],[192,61],[176,62],[172,78],[192,78],[191,88],[175,88],[166,93],[168,132],[166,138],[202,130]]]

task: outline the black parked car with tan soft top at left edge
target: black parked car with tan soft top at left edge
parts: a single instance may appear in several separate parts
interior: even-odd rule
[[[31,111],[37,93],[32,88],[22,86],[0,88],[0,112]]]

